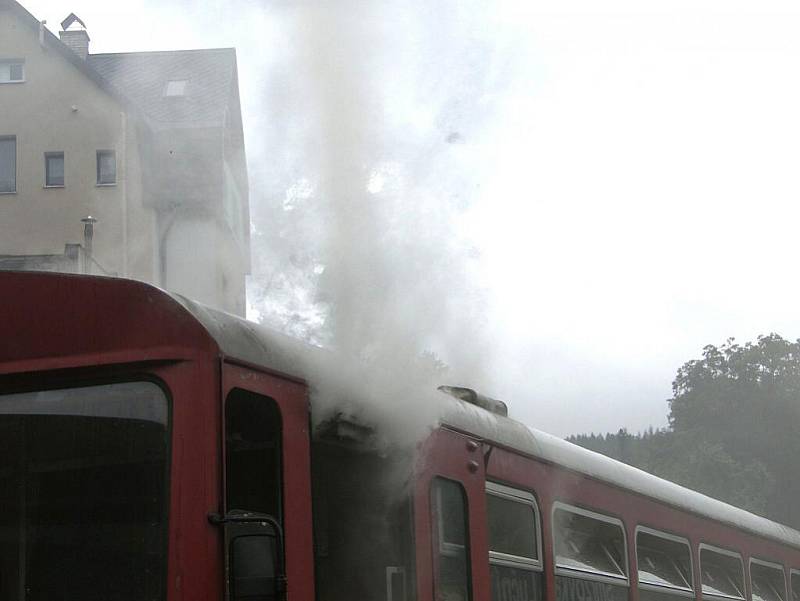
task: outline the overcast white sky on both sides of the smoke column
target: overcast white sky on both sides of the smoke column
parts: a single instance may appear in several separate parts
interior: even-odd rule
[[[54,32],[74,11],[95,53],[236,46],[254,184],[257,161],[282,152],[264,132],[295,3],[23,4]],[[392,44],[411,27],[419,55],[393,64],[403,89],[424,82],[461,111],[447,165],[471,182],[458,230],[488,299],[486,392],[558,435],[659,427],[676,369],[705,344],[798,337],[796,3],[481,5],[409,1],[387,18]],[[419,39],[440,22],[452,47]],[[426,127],[424,101],[384,97],[387,119]]]

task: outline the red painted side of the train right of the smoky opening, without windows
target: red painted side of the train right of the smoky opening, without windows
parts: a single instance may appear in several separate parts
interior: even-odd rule
[[[742,532],[658,502],[632,494],[583,474],[524,456],[513,449],[479,441],[471,451],[468,433],[446,429],[434,432],[421,446],[415,483],[415,535],[418,601],[436,599],[436,557],[431,523],[431,482],[437,476],[460,482],[469,505],[470,557],[473,601],[489,601],[491,591],[488,569],[488,533],[486,531],[485,483],[487,480],[529,491],[536,497],[542,517],[542,552],[544,559],[545,599],[555,601],[555,565],[553,557],[552,508],[556,501],[591,509],[617,517],[625,525],[630,589],[628,598],[638,601],[636,574],[636,527],[647,526],[686,538],[694,558],[694,582],[697,601],[702,601],[701,577],[697,553],[701,543],[741,553],[745,567],[745,586],[750,595],[750,558],[784,566],[787,586],[790,569],[800,569],[800,550],[775,541]],[[478,460],[477,469],[470,462]],[[485,463],[484,463],[485,461]],[[474,470],[474,471],[473,471]]]

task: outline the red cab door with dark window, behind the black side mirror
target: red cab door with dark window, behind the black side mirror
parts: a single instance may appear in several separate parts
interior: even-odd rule
[[[251,513],[273,518],[282,530],[283,548],[278,556],[282,551],[288,599],[311,601],[314,572],[306,387],[231,363],[223,364],[222,383],[226,520],[231,520],[229,516],[244,520]],[[244,523],[239,525],[246,533]],[[226,553],[230,570],[235,562],[230,540],[226,540]],[[258,578],[240,581],[243,588],[258,586]],[[238,598],[230,593],[232,582],[228,586],[229,597]]]

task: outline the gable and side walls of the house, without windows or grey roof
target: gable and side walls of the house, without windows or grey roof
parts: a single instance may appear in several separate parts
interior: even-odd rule
[[[249,214],[238,89],[226,123],[170,128],[67,60],[49,34],[42,43],[18,12],[0,3],[0,57],[25,63],[23,83],[0,86],[0,136],[16,137],[17,154],[17,190],[0,203],[0,256],[35,266],[84,245],[81,219],[91,215],[92,273],[244,315]],[[115,185],[97,185],[98,150],[116,153]],[[63,187],[45,187],[46,152],[64,153]],[[162,256],[167,249],[172,256]]]

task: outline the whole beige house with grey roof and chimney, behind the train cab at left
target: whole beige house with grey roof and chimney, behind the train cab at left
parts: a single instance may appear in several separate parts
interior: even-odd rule
[[[243,315],[235,50],[91,54],[77,16],[61,27],[0,0],[0,269],[141,279]]]

